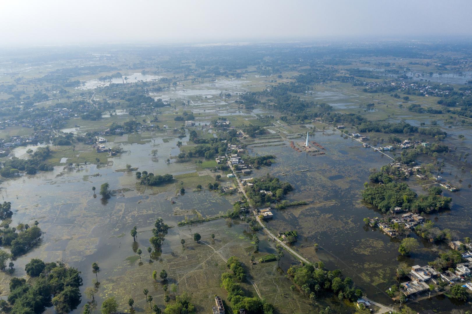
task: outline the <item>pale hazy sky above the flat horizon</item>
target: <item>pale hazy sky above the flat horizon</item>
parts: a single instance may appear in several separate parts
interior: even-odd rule
[[[471,37],[471,0],[0,0],[0,45]]]

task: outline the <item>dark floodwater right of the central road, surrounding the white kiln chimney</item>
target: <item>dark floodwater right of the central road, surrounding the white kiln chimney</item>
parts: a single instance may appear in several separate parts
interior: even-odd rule
[[[256,170],[254,176],[276,175],[295,187],[295,192],[287,196],[289,200],[310,202],[309,206],[275,211],[274,220],[268,223],[268,227],[274,232],[297,230],[299,241],[295,248],[302,252],[312,247],[313,243],[318,243],[320,249],[317,255],[327,267],[341,269],[368,297],[390,304],[391,299],[383,291],[394,283],[394,271],[399,262],[425,264],[437,257],[431,248],[446,247],[421,241],[421,248],[411,257],[397,259],[399,240],[366,227],[362,221],[364,217],[380,216],[379,212],[361,201],[363,183],[368,181],[369,169],[379,168],[390,159],[371,149],[364,149],[357,141],[340,137],[338,132],[316,132],[310,140],[324,146],[326,154],[307,156],[288,145],[257,148],[258,155],[271,154],[277,159],[270,168]],[[300,141],[304,139],[300,138]],[[295,172],[304,169],[309,171]],[[434,217],[436,215],[429,218],[435,219],[441,228],[449,227],[464,234],[470,232],[472,213],[470,205],[465,202],[470,197],[470,189],[455,193],[450,212],[439,214],[437,219]],[[450,306],[449,301],[438,304]]]

